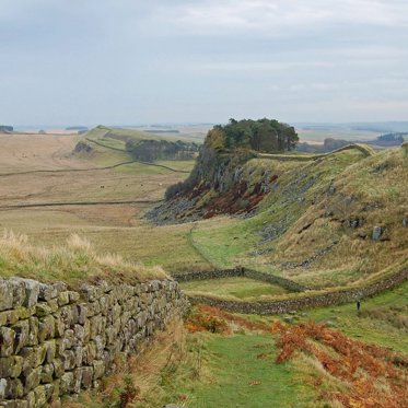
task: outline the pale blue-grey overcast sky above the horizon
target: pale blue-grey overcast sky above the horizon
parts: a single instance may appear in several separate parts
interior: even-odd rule
[[[407,0],[0,0],[0,124],[408,120]]]

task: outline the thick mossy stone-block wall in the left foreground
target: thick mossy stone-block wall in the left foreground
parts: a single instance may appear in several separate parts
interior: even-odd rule
[[[119,354],[138,352],[188,301],[173,280],[135,285],[101,281],[0,279],[0,408],[33,408],[97,387]]]

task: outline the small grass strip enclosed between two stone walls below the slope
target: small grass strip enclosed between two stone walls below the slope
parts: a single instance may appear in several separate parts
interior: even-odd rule
[[[226,295],[247,300],[256,300],[263,295],[287,293],[283,288],[277,284],[265,283],[243,277],[182,282],[180,285],[187,294],[189,291],[194,291],[195,293],[213,293],[220,296]]]

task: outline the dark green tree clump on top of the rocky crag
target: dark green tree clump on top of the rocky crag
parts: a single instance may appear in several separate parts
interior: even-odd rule
[[[217,125],[210,130],[206,143],[215,150],[248,149],[258,152],[278,153],[293,150],[299,141],[292,126],[275,119],[235,120],[225,126]]]

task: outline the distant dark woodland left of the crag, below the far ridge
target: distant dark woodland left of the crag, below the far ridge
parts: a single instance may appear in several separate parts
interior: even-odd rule
[[[196,143],[182,140],[176,142],[167,140],[128,140],[126,150],[133,159],[154,162],[156,160],[190,160],[199,151]]]

